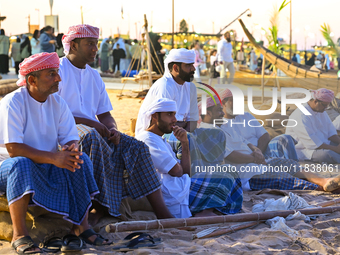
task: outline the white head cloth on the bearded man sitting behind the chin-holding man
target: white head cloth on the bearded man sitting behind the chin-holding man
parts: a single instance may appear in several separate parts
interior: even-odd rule
[[[194,50],[187,50],[184,48],[181,49],[172,49],[169,55],[164,60],[164,75],[170,74],[170,70],[168,64],[171,62],[180,62],[180,63],[195,63],[196,54]]]

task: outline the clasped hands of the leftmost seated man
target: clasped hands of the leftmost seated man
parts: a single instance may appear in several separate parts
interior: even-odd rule
[[[54,155],[53,165],[65,168],[71,172],[75,172],[76,169],[80,169],[79,164],[83,164],[84,161],[80,159],[83,153],[78,151],[78,148],[74,148],[75,144],[71,146],[63,146],[62,151],[58,151]]]

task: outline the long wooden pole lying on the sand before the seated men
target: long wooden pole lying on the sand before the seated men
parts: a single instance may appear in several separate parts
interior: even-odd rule
[[[118,222],[116,224],[109,224],[105,230],[108,233],[112,232],[125,232],[136,230],[150,230],[150,229],[163,229],[163,228],[178,228],[187,226],[210,225],[226,222],[247,222],[247,221],[260,221],[268,220],[276,216],[287,217],[289,214],[294,214],[300,211],[302,214],[323,214],[333,213],[340,211],[340,206],[325,207],[325,208],[309,208],[301,210],[285,210],[285,211],[269,211],[261,213],[242,213],[235,215],[223,215],[214,217],[202,218],[188,218],[188,219],[164,219],[164,220],[149,220],[149,221],[131,221],[131,222]]]

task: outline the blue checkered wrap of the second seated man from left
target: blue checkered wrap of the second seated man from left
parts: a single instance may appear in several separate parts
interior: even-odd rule
[[[112,216],[120,215],[123,198],[139,199],[160,189],[149,148],[143,142],[121,134],[120,143],[114,145],[94,128],[85,125],[77,128],[80,147],[93,163],[100,191],[95,200],[108,207]]]

